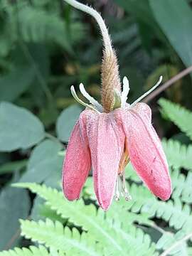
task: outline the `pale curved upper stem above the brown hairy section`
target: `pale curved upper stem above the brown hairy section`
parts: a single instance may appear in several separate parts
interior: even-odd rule
[[[102,19],[102,16],[100,16],[100,14],[97,13],[97,11],[92,9],[90,6],[81,4],[78,1],[75,1],[75,0],[64,0],[64,1],[70,4],[71,6],[75,7],[76,9],[79,9],[80,11],[84,11],[85,13],[90,14],[93,18],[95,18],[98,25],[100,26],[100,31],[102,33],[105,51],[106,53],[112,53],[113,50],[112,50],[110,35],[107,31],[107,27],[105,25],[105,22]]]

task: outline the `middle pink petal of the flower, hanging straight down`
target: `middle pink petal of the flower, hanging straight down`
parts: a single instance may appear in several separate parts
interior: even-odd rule
[[[124,146],[124,132],[118,124],[115,111],[94,115],[87,114],[87,137],[95,194],[100,206],[107,210],[114,196],[119,160]]]

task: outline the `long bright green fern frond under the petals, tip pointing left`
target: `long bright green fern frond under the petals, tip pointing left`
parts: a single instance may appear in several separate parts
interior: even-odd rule
[[[137,248],[142,246],[148,248],[148,250],[142,250],[141,255],[147,255],[146,252],[154,250],[154,247],[150,246],[151,240],[146,239],[139,231],[133,231],[135,230],[134,226],[130,224],[127,225],[127,228],[130,234],[132,234],[132,239],[127,238],[127,235],[125,235],[127,230],[125,232],[121,225],[122,218],[125,218],[127,223],[129,223],[129,214],[125,216],[125,213],[127,213],[126,209],[120,207],[118,211],[119,215],[113,215],[112,213],[114,213],[115,210],[117,212],[116,208],[108,215],[108,218],[106,218],[105,213],[102,210],[96,211],[95,206],[90,205],[85,207],[82,200],[68,202],[63,197],[63,193],[53,188],[40,186],[36,183],[18,183],[16,186],[29,188],[33,193],[38,193],[38,196],[44,198],[47,205],[53,210],[56,210],[63,218],[68,218],[71,223],[80,225],[87,230],[90,237],[97,240],[99,244],[101,243],[109,255],[126,255],[127,252],[130,253],[132,250],[133,255],[135,255]],[[135,221],[135,219],[132,218],[132,213],[130,213],[130,215],[130,220]],[[146,215],[143,218],[145,218],[147,222]],[[117,226],[119,226],[118,230]],[[138,234],[140,234],[140,239]]]

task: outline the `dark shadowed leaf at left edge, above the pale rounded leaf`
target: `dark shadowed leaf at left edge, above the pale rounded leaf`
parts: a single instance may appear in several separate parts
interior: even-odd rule
[[[0,101],[14,101],[25,92],[35,77],[31,67],[18,70],[0,78]]]

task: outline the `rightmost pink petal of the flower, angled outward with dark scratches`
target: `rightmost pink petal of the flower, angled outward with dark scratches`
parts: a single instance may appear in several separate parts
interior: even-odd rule
[[[155,196],[167,200],[171,195],[169,166],[149,117],[150,112],[144,105],[127,109],[122,116],[126,144],[137,174]]]

